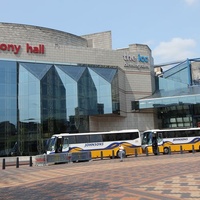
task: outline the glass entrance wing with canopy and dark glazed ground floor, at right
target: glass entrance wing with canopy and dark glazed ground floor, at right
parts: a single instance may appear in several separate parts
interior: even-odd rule
[[[156,92],[132,102],[133,110],[154,109],[158,128],[200,126],[200,59],[188,59],[155,77]]]

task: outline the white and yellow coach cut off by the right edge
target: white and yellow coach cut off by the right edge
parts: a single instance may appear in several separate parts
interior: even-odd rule
[[[147,130],[143,133],[142,151],[169,154],[171,151],[199,151],[200,128]]]

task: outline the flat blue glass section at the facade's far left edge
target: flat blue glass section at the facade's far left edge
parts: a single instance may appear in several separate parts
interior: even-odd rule
[[[0,156],[9,156],[17,137],[17,63],[0,61]]]

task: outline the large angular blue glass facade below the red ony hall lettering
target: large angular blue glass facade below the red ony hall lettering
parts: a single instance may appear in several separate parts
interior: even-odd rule
[[[117,67],[0,61],[0,76],[0,156],[43,153],[52,134],[119,112]]]

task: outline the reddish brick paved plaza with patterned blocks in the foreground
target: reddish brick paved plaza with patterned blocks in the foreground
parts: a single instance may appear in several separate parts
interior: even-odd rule
[[[0,199],[200,199],[200,153],[0,169]]]

